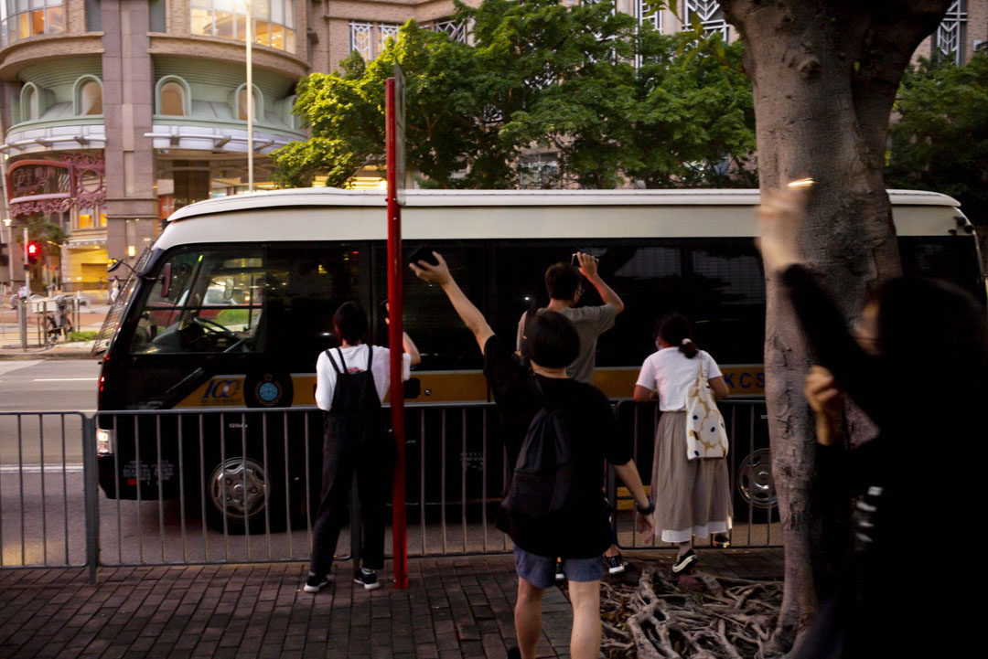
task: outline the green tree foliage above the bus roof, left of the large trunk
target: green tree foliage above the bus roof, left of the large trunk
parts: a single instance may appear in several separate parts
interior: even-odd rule
[[[757,182],[740,44],[714,37],[698,54],[690,34],[639,28],[610,2],[457,3],[453,20],[472,26],[470,45],[409,22],[376,60],[354,53],[342,72],[303,79],[295,112],[313,137],[273,154],[278,183],[328,174],[342,185],[364,165],[383,167],[395,59],[407,80],[408,169],[423,184],[515,187],[544,153],[558,166],[543,186]]]

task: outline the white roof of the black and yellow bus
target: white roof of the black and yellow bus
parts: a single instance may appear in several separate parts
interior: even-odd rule
[[[963,215],[945,194],[889,190],[900,236],[944,236]],[[756,189],[409,190],[411,241],[751,238]],[[387,237],[382,190],[333,187],[200,201],[171,216],[155,248],[204,243],[366,241]]]

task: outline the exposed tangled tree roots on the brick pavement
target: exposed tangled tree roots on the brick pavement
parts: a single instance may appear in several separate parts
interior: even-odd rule
[[[609,659],[773,659],[782,583],[715,577],[677,580],[646,567],[637,587],[603,584],[602,651]]]

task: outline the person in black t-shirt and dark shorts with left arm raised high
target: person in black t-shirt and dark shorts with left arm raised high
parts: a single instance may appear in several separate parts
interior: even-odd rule
[[[555,583],[556,556],[560,556],[573,606],[570,654],[574,659],[597,659],[602,556],[611,546],[601,496],[605,460],[634,496],[638,523],[645,533],[654,527],[655,506],[631,460],[630,445],[615,441],[617,420],[607,397],[566,375],[566,367],[580,350],[573,324],[556,312],[532,314],[521,346],[530,372],[516,359],[514,341],[494,334],[456,285],[443,256],[433,255],[438,264],[420,260],[411,268],[419,278],[443,287],[459,318],[473,332],[501,415],[508,459],[515,466],[497,519],[497,528],[515,544],[519,576],[515,629],[520,647],[513,648],[509,657],[535,658],[542,592]]]

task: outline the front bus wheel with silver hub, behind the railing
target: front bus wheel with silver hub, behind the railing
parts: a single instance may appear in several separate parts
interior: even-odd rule
[[[285,528],[284,486],[264,463],[252,456],[233,456],[217,463],[206,476],[206,521],[214,530],[233,535]],[[266,507],[267,520],[265,515]]]

